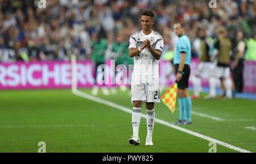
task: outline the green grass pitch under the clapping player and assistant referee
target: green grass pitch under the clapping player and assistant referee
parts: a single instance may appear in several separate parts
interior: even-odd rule
[[[82,89],[90,94],[90,89]],[[98,97],[132,108],[129,92]],[[192,126],[181,126],[256,152],[256,101],[211,100],[192,101]],[[155,105],[156,118],[173,123],[179,115],[163,103]],[[142,108],[145,112],[145,107]],[[216,116],[214,120],[200,114]],[[208,152],[209,141],[155,123],[154,146],[145,146],[146,119],[139,130],[141,145],[129,145],[132,135],[131,115],[101,103],[86,100],[63,90],[0,91],[0,152],[38,152],[39,141],[46,152]],[[217,152],[236,150],[217,145]]]

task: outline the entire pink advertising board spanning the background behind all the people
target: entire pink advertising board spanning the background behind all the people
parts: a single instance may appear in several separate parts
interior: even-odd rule
[[[119,72],[118,67],[111,61],[106,61],[105,70],[110,73],[107,75],[107,87],[117,87]],[[195,75],[199,66],[198,59],[191,61],[191,75]],[[123,67],[120,67],[124,70]],[[125,84],[130,84],[132,68],[127,68]],[[112,71],[111,71],[112,70]],[[92,61],[77,62],[77,87],[91,88],[94,85],[94,64]],[[119,70],[120,71],[120,70]],[[243,71],[244,90],[256,93],[256,62],[246,61]],[[159,61],[159,82],[171,85],[175,81],[174,68],[169,61]],[[167,75],[168,78],[166,79]],[[121,78],[123,79],[123,78]],[[164,82],[167,80],[167,83]],[[114,83],[113,83],[114,82]],[[15,62],[0,63],[0,89],[58,89],[71,88],[71,62],[50,61],[50,62]],[[189,84],[192,86],[191,81]],[[208,80],[202,79],[202,85],[208,86]],[[101,87],[101,85],[99,85]]]

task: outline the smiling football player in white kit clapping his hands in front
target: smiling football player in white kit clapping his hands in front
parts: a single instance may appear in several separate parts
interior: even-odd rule
[[[155,122],[154,103],[160,102],[158,60],[163,51],[163,37],[152,31],[154,11],[143,10],[142,31],[130,37],[129,55],[134,58],[134,72],[131,81],[131,102],[133,103],[131,145],[139,145],[139,123],[141,122],[142,102],[146,102],[147,137],[145,145],[153,145],[152,133]]]

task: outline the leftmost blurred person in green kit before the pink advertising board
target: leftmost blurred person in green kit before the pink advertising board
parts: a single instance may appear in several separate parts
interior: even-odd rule
[[[107,49],[107,41],[105,38],[101,38],[101,35],[98,34],[96,40],[92,41],[92,60],[95,65],[95,85],[92,89],[92,94],[95,96],[98,94],[99,87],[97,85],[97,68],[101,64],[105,64],[105,51]],[[109,90],[104,86],[102,87],[102,92],[108,96]]]

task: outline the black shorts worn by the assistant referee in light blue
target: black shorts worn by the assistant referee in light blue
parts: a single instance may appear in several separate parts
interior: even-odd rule
[[[179,70],[179,64],[175,64],[174,67],[175,67],[175,74],[177,75],[177,71]],[[183,68],[183,75],[181,77],[181,80],[179,81],[179,83],[177,83],[177,87],[179,89],[188,88],[189,75],[190,75],[190,67],[188,64],[185,64]]]

